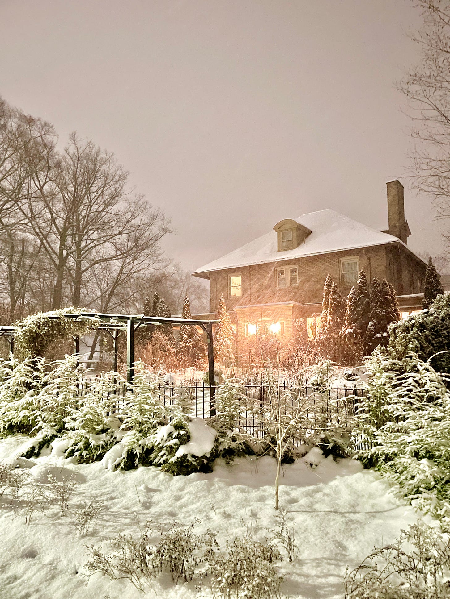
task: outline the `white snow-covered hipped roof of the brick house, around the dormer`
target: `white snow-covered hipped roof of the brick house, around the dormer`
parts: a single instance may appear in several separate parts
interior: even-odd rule
[[[303,256],[314,256],[329,252],[356,249],[358,247],[379,246],[387,243],[401,243],[394,235],[377,231],[363,225],[335,210],[319,210],[302,214],[294,219],[299,224],[311,229],[311,234],[293,250],[277,251],[277,233],[270,231],[262,237],[238,247],[221,258],[205,264],[193,273],[202,276],[211,271],[224,268],[237,268],[252,264],[266,264],[280,260],[291,260]]]

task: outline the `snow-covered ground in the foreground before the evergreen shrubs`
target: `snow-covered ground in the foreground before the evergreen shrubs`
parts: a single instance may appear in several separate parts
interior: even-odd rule
[[[0,441],[0,460],[11,461],[24,438]],[[49,453],[49,452],[47,452]],[[310,460],[313,461],[313,460]],[[289,523],[295,522],[298,555],[280,566],[285,581],[283,595],[290,598],[332,599],[343,597],[346,565],[358,565],[374,544],[393,541],[418,518],[389,493],[386,482],[359,462],[318,460],[311,468],[304,459],[286,465],[280,488],[280,504]],[[36,514],[31,524],[17,506],[0,500],[0,597],[1,599],[193,599],[211,597],[209,589],[194,584],[174,587],[155,585],[145,595],[127,580],[110,580],[102,574],[86,577],[86,546],[97,546],[119,533],[137,534],[139,525],[153,519],[160,523],[190,523],[198,518],[197,531],[217,531],[225,544],[235,533],[267,533],[279,528],[274,510],[275,461],[269,457],[239,458],[226,466],[218,460],[212,474],[172,477],[155,467],[130,472],[104,469],[100,462],[82,465],[55,455],[23,461],[22,467],[37,482],[72,473],[77,487],[67,515],[56,506]],[[94,530],[79,537],[73,526],[83,501],[103,502]]]

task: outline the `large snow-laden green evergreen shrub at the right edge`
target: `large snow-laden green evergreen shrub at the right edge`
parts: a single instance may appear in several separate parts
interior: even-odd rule
[[[371,363],[372,362],[372,363]],[[397,483],[401,495],[450,527],[450,395],[428,362],[409,355],[368,362],[358,419],[372,448],[359,457]]]

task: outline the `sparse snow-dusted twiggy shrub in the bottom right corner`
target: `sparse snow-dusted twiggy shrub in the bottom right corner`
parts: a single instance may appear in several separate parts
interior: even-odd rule
[[[450,541],[439,528],[414,524],[395,543],[375,547],[345,580],[346,599],[450,597]]]

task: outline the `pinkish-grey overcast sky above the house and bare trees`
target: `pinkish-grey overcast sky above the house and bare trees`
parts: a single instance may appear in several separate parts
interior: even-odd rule
[[[323,208],[387,228],[393,176],[434,254],[395,90],[419,23],[410,0],[0,0],[0,95],[114,152],[190,270]]]

